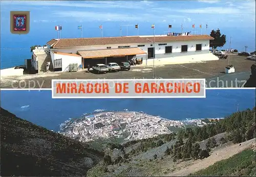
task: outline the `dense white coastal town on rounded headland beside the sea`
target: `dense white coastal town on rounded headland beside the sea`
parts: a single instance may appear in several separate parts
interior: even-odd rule
[[[169,134],[169,127],[183,128],[188,124],[203,126],[206,123],[201,119],[168,120],[142,112],[112,111],[66,120],[60,125],[59,133],[82,142],[111,137],[131,141]]]

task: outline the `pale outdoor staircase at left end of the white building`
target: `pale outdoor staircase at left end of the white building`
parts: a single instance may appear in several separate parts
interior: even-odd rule
[[[38,63],[38,73],[46,72],[46,65],[50,62],[49,71],[54,71],[52,58],[50,53],[46,53],[44,51],[36,53],[37,63]]]

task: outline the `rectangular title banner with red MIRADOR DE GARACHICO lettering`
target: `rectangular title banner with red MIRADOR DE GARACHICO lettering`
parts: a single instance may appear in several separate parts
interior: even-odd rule
[[[52,98],[205,98],[205,79],[52,80]]]

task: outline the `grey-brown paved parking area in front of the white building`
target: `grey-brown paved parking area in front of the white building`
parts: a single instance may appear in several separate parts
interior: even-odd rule
[[[224,68],[228,60],[216,60],[198,63],[173,64],[155,66],[155,78],[185,79],[206,78],[206,81],[247,80],[250,76],[250,67],[255,61],[246,60],[245,57],[230,55],[230,64],[236,68],[235,73],[225,74]],[[52,79],[153,79],[153,67],[134,66],[130,71],[110,72],[105,74],[79,72],[54,72],[20,77],[8,77],[1,79],[1,88],[51,88]],[[240,87],[242,84],[240,84]],[[230,87],[212,83],[211,87]],[[235,87],[235,86],[233,86]]]

